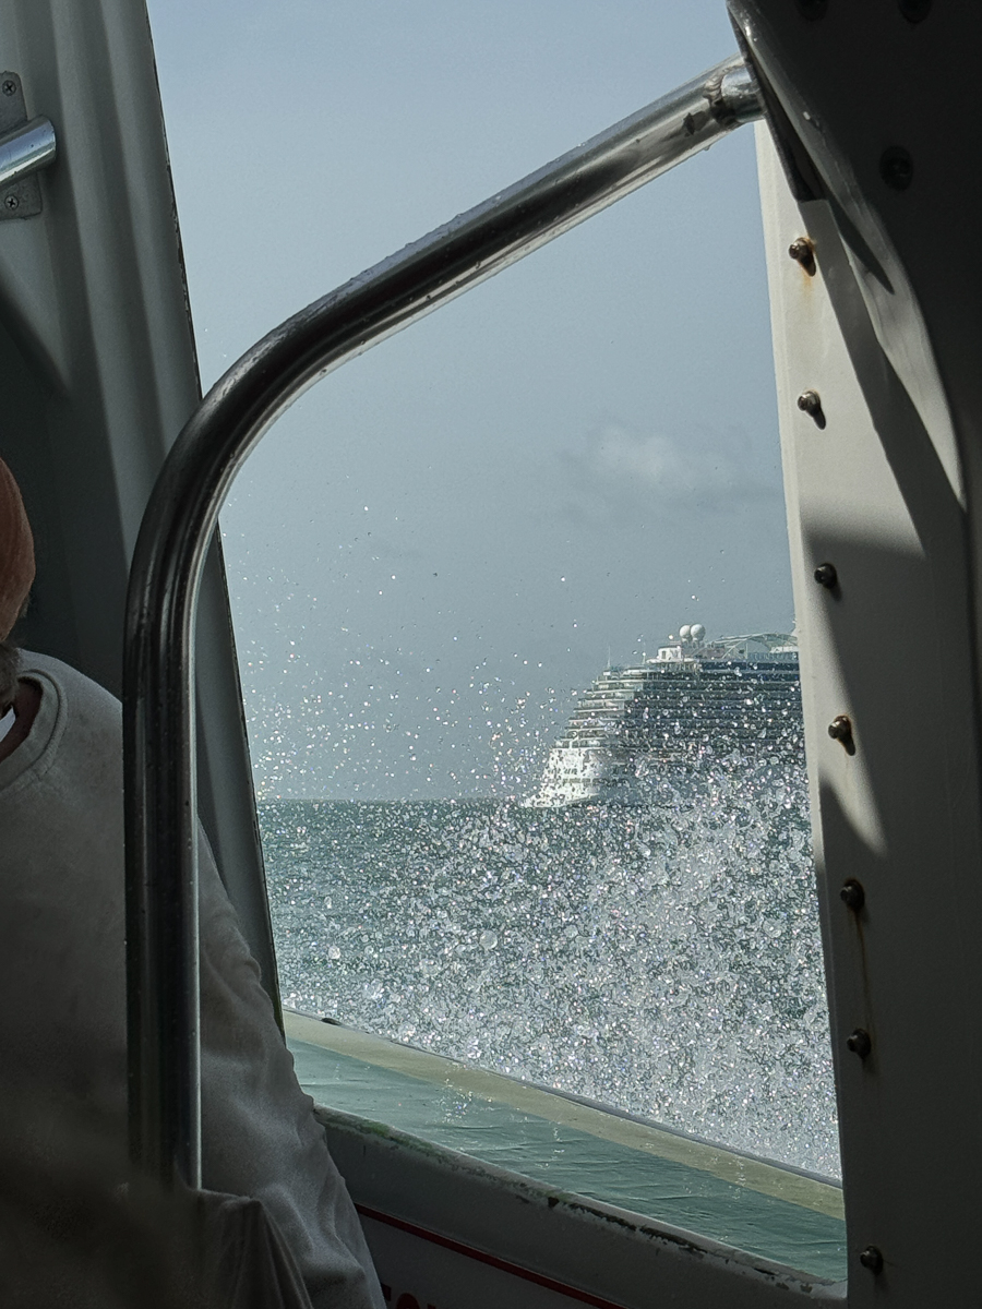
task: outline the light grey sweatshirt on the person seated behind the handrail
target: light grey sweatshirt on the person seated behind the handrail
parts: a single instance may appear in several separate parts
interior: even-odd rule
[[[55,1093],[126,1141],[123,779],[119,703],[24,653],[41,687],[27,738],[0,762],[0,1051],[12,1096]],[[206,1187],[262,1200],[316,1309],[381,1309],[364,1236],[259,969],[202,843]]]

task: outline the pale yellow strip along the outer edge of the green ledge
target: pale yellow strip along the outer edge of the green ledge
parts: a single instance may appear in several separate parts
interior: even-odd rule
[[[784,1200],[787,1204],[797,1204],[800,1208],[825,1213],[827,1217],[845,1217],[842,1189],[833,1183],[801,1177],[800,1173],[792,1173],[776,1164],[765,1164],[761,1160],[746,1158],[744,1155],[733,1155],[719,1145],[707,1145],[703,1141],[676,1136],[673,1132],[649,1127],[647,1123],[639,1123],[630,1118],[606,1114],[602,1109],[580,1105],[563,1096],[553,1096],[538,1086],[528,1086],[525,1083],[503,1077],[500,1073],[486,1072],[483,1068],[469,1068],[466,1064],[456,1063],[443,1055],[431,1055],[424,1050],[397,1045],[394,1041],[373,1037],[367,1031],[356,1031],[354,1028],[338,1028],[291,1011],[284,1011],[283,1021],[287,1035],[295,1041],[305,1041],[312,1046],[334,1050],[336,1054],[360,1059],[377,1068],[388,1068],[390,1072],[403,1073],[406,1077],[415,1077],[418,1081],[449,1086],[492,1103],[507,1105],[509,1109],[534,1114],[546,1122],[573,1127],[576,1131],[588,1132],[601,1140],[655,1155],[657,1158],[682,1164],[686,1168],[695,1168],[723,1182],[744,1186],[761,1195]]]

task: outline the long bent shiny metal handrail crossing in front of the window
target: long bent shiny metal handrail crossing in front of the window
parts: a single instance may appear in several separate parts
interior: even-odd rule
[[[287,319],[170,450],[136,542],[123,670],[130,1148],[165,1186],[200,1185],[194,624],[233,478],[333,368],[759,114],[753,75],[724,60]]]

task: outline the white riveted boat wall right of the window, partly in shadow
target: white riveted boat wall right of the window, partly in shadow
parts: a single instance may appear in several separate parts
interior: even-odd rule
[[[982,270],[964,258],[982,179],[960,89],[982,13],[731,12],[774,126],[758,158],[847,1296],[964,1305],[972,1272],[936,1251],[974,1241],[982,1172],[966,1039],[982,1003]],[[852,753],[829,733],[842,719]]]

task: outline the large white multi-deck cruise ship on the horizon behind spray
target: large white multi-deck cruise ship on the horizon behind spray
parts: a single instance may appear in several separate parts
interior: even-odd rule
[[[653,658],[597,677],[528,804],[631,802],[660,768],[733,754],[800,755],[801,733],[793,632],[707,641],[702,623],[686,623]]]

